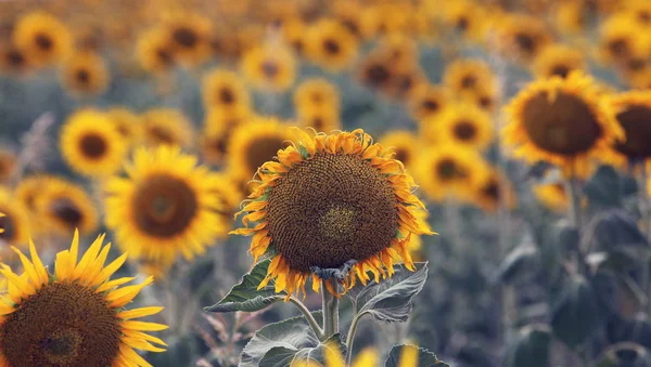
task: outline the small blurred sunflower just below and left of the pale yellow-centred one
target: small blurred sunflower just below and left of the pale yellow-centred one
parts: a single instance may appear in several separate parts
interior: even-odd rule
[[[203,78],[203,100],[207,108],[251,108],[246,84],[226,69],[214,69]]]

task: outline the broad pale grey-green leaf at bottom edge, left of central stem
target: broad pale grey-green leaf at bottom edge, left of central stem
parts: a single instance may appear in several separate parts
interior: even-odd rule
[[[320,312],[312,315],[318,323],[322,323]],[[322,364],[323,350],[332,343],[343,351],[344,344],[339,333],[321,343],[305,317],[288,318],[269,324],[255,333],[242,351],[240,367],[281,367],[290,366],[293,361]]]

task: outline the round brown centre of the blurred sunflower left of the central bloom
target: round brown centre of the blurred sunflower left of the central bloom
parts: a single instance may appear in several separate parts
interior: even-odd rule
[[[199,201],[192,187],[182,180],[154,175],[140,184],[132,208],[141,231],[167,238],[188,230],[199,211]]]

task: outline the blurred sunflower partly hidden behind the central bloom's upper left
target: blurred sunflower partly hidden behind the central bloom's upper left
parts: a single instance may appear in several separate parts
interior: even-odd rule
[[[228,167],[239,180],[251,180],[259,167],[288,146],[290,128],[275,118],[255,118],[233,129],[228,143]]]

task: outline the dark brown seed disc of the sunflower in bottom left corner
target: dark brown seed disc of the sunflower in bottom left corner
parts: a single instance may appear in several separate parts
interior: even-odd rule
[[[119,319],[103,296],[68,283],[44,286],[0,327],[10,366],[111,366],[120,338]]]

